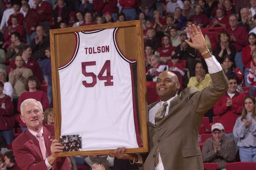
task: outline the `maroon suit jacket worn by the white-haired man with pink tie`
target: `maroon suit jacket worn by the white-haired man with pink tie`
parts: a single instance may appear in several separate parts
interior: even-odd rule
[[[54,125],[46,125],[44,128],[44,142],[48,155],[51,155],[51,141],[54,139]],[[25,130],[12,142],[15,161],[22,170],[47,170],[41,154],[39,142],[29,130]],[[52,166],[52,170],[71,170],[66,157],[58,157]]]

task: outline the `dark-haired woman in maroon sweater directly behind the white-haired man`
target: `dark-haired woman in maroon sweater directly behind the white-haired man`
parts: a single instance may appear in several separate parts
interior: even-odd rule
[[[44,111],[48,109],[49,100],[47,98],[47,94],[44,91],[39,90],[41,88],[41,84],[39,80],[35,76],[29,76],[26,80],[25,89],[26,92],[20,95],[19,102],[17,105],[17,111],[20,112],[20,105],[21,103],[29,98],[36,99],[37,101],[41,102],[43,105]],[[26,130],[26,125],[22,121],[20,121],[21,130]]]

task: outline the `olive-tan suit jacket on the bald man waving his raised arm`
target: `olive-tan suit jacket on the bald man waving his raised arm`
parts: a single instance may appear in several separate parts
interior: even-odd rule
[[[224,71],[211,74],[211,78],[212,85],[202,91],[193,86],[181,91],[157,126],[148,122],[151,151],[144,170],[154,170],[157,147],[165,170],[204,170],[198,132],[204,113],[223,96],[228,84]],[[148,110],[156,104],[149,105]]]

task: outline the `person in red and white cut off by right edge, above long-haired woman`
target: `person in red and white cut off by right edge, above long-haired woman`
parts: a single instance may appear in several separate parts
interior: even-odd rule
[[[250,88],[249,95],[253,96],[256,90],[256,51],[252,54],[252,61],[250,63],[250,69],[247,74],[247,82],[252,86]]]

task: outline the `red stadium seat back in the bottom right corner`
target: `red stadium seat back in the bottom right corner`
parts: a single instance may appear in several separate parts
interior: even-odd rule
[[[233,162],[226,164],[226,170],[256,170],[256,162]]]

